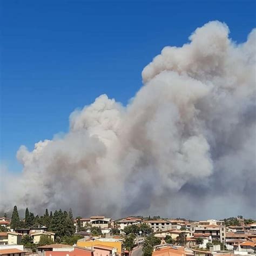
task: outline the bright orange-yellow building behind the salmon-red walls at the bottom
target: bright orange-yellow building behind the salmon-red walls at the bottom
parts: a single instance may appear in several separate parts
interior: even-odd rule
[[[95,245],[104,245],[117,248],[117,254],[121,254],[123,250],[123,241],[114,238],[98,238],[93,240],[79,239],[77,246],[92,248]]]

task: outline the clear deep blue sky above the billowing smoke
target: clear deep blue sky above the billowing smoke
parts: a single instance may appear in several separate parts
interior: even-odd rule
[[[20,171],[20,145],[66,132],[69,114],[102,93],[126,104],[144,66],[208,21],[244,42],[255,2],[1,1],[0,161]]]

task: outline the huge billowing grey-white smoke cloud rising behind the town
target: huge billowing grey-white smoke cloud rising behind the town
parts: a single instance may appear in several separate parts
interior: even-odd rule
[[[256,30],[242,44],[228,33],[205,24],[144,68],[127,106],[99,96],[63,138],[21,146],[23,172],[10,183],[2,170],[1,208],[255,217]]]

